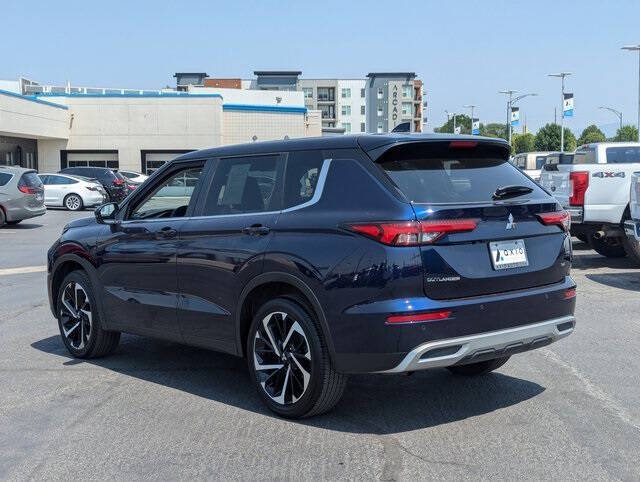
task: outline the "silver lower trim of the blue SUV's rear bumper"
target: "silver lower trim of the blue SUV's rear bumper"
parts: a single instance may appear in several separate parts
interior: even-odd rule
[[[378,373],[466,365],[522,353],[570,335],[575,323],[573,316],[563,316],[532,325],[423,343],[411,350],[398,365]]]

